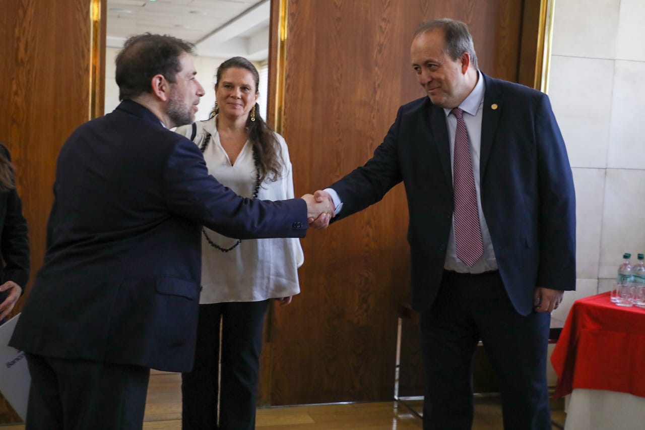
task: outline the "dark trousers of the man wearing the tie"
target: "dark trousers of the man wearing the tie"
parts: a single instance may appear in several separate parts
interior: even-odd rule
[[[470,429],[472,366],[482,340],[501,391],[504,429],[551,429],[546,385],[550,314],[518,314],[498,272],[444,272],[421,313],[426,369],[424,429]]]

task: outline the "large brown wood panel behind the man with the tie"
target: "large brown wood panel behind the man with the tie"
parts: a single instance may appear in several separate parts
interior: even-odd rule
[[[282,132],[297,196],[364,163],[399,106],[424,96],[409,57],[422,22],[466,21],[482,70],[517,81],[522,0],[283,1]],[[399,185],[381,203],[324,232],[308,232],[303,292],[272,315],[270,380],[264,381],[270,404],[392,398],[397,309],[410,283],[407,223]]]

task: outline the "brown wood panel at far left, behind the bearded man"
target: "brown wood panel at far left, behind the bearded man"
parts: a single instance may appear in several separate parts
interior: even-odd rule
[[[0,58],[0,141],[17,170],[33,280],[45,254],[57,154],[89,119],[90,0],[0,0]],[[0,422],[12,421],[4,411]]]

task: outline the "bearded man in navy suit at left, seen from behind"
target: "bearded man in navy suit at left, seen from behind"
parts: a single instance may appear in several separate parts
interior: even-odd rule
[[[319,215],[311,195],[237,196],[168,129],[194,121],[204,94],[191,53],[170,36],[128,39],[122,103],[61,149],[45,263],[10,342],[32,376],[27,429],[140,429],[150,368],[192,368],[201,225],[303,237]]]

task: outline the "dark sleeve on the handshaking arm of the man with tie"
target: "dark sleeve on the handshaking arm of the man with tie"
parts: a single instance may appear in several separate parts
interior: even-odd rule
[[[401,182],[398,139],[401,124],[401,109],[397,119],[386,134],[371,159],[339,181],[330,185],[342,201],[342,209],[333,221],[341,220],[359,210],[381,201],[385,194]]]

